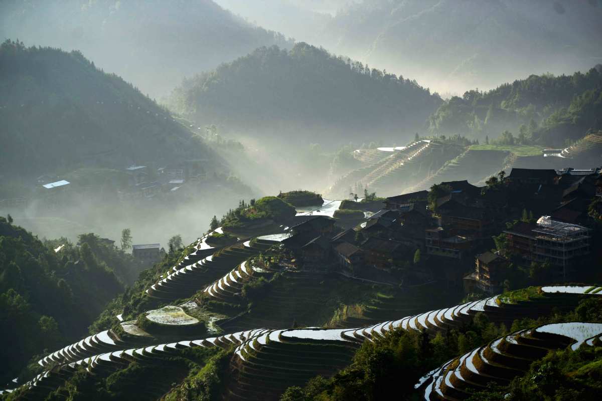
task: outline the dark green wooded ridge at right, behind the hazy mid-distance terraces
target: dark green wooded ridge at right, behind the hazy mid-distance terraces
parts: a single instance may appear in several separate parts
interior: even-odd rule
[[[600,129],[600,88],[602,66],[585,74],[531,75],[490,91],[467,91],[429,117],[429,131],[484,141],[509,130],[523,142],[564,145]]]

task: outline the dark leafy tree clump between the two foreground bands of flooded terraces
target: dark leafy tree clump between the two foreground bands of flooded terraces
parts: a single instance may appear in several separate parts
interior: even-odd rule
[[[376,341],[365,341],[353,363],[330,379],[309,381],[306,387],[290,387],[281,401],[380,400],[390,394],[411,400],[414,384],[455,355],[506,334],[507,329],[477,314],[467,327],[430,337],[426,332],[397,329]]]

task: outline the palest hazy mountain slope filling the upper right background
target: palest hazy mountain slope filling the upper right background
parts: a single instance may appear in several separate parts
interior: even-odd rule
[[[462,93],[532,73],[585,72],[600,63],[591,38],[602,35],[601,18],[596,0],[364,0],[338,11],[315,43]]]

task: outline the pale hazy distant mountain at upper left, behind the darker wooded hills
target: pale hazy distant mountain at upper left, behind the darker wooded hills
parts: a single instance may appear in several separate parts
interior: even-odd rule
[[[211,0],[8,0],[0,38],[79,50],[153,97],[256,47],[289,44]]]

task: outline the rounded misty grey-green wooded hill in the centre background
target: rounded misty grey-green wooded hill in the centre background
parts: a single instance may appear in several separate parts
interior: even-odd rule
[[[441,102],[416,81],[297,43],[290,51],[261,47],[185,80],[170,105],[198,124],[312,129],[302,131],[302,140],[324,143],[364,140],[374,130],[389,137],[413,135]]]

